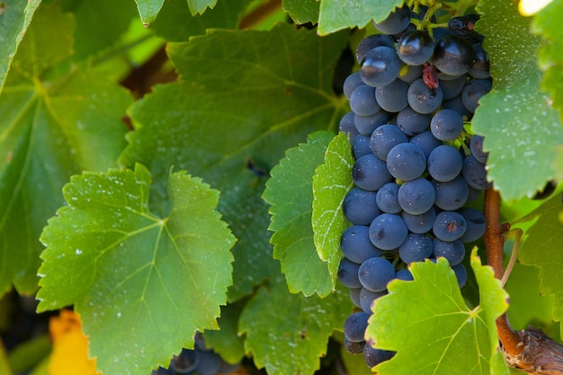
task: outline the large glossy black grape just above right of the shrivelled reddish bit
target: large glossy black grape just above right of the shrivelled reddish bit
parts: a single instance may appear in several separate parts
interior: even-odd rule
[[[475,58],[475,49],[471,42],[457,35],[446,35],[434,46],[434,67],[450,76],[467,73]]]

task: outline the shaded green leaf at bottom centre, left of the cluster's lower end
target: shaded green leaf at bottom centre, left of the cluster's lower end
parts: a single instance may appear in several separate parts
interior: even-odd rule
[[[282,312],[272,314],[273,307]],[[269,375],[312,375],[326,354],[328,337],[342,331],[351,311],[344,287],[325,299],[305,297],[290,293],[279,275],[246,303],[239,330],[246,335],[246,353]]]

